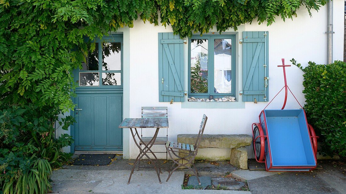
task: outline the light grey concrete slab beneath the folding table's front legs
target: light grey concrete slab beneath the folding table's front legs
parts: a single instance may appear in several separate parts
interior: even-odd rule
[[[58,169],[51,176],[53,193],[230,193],[220,190],[183,190],[184,172],[174,172],[168,182],[167,172],[158,182],[155,171],[135,171],[127,184],[131,171]],[[231,193],[249,193],[235,191]]]

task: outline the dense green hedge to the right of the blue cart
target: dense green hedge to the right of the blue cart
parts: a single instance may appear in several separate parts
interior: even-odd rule
[[[305,72],[304,108],[308,122],[320,136],[319,152],[346,159],[346,63],[317,65],[310,61],[301,69]]]

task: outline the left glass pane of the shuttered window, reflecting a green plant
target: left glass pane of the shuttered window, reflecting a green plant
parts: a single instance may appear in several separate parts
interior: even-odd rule
[[[191,39],[191,93],[208,93],[208,39]]]

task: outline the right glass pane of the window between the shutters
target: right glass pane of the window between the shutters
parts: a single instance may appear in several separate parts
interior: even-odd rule
[[[231,39],[214,39],[214,92],[231,93]]]

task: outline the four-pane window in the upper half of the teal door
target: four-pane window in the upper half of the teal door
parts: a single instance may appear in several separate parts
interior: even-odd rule
[[[121,86],[121,40],[104,37],[90,43],[95,46],[79,71],[80,86]],[[102,80],[102,81],[100,81]]]

